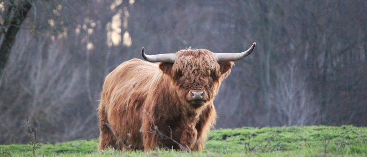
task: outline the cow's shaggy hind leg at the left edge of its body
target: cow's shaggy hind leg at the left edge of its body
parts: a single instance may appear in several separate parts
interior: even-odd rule
[[[102,103],[102,102],[101,102]],[[98,146],[98,151],[107,149],[112,146],[116,149],[116,139],[108,126],[107,115],[104,111],[104,107],[100,104],[98,108],[98,118],[100,121],[100,143]]]

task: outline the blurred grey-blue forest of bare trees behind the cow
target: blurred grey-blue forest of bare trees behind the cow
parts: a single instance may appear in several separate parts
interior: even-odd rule
[[[29,142],[26,115],[42,142],[98,137],[103,79],[142,47],[257,43],[221,86],[216,128],[367,126],[366,13],[366,0],[0,0],[1,46],[19,29],[0,79],[0,144]]]

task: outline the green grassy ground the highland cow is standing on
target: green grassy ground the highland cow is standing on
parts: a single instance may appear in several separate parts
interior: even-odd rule
[[[367,157],[367,127],[302,126],[218,129],[210,132],[202,153],[173,150],[107,150],[97,153],[98,139],[39,144],[37,156],[58,157]],[[0,145],[0,157],[32,156],[32,145]]]

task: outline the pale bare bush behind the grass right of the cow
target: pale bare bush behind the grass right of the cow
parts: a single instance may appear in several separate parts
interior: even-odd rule
[[[320,101],[309,90],[307,74],[292,60],[276,72],[276,85],[271,90],[277,125],[316,125],[320,123]]]

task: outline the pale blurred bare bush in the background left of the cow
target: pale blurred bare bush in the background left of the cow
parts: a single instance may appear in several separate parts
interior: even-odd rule
[[[37,45],[35,53],[25,53],[26,50],[19,47],[17,50],[21,56],[10,59],[4,74],[11,77],[4,80],[7,87],[5,90],[11,90],[19,96],[12,96],[12,105],[9,107],[23,110],[8,109],[0,116],[2,119],[9,119],[6,120],[9,122],[12,118],[23,119],[24,115],[28,115],[29,119],[39,120],[41,125],[47,126],[40,130],[40,135],[47,129],[60,128],[58,121],[63,118],[62,113],[70,107],[68,104],[72,103],[72,99],[80,95],[81,91],[77,89],[82,79],[80,68],[70,69],[70,55],[64,54],[62,46],[54,43],[46,47],[47,40],[50,39],[41,36],[36,41],[26,38],[23,44]],[[19,59],[22,60],[21,63],[17,62]],[[15,80],[20,80],[19,85],[10,85]],[[1,99],[6,100],[4,97]],[[14,112],[17,117],[13,116]],[[17,130],[17,127],[19,123],[5,123],[1,128]],[[17,138],[23,136],[20,134]]]

